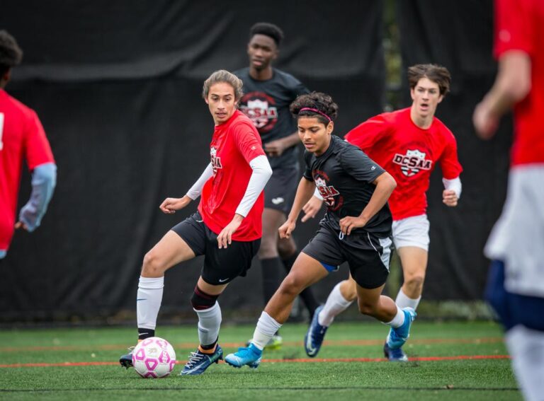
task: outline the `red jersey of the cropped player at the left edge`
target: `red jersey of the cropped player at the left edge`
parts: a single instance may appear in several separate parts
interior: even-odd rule
[[[30,170],[55,162],[38,115],[0,89],[0,250],[13,236],[23,158]]]

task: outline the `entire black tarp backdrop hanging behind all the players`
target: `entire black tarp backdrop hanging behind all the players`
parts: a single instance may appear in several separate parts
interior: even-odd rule
[[[2,1],[0,28],[26,51],[8,92],[40,115],[59,165],[42,227],[16,233],[2,267],[0,320],[113,316],[135,309],[143,255],[196,204],[174,217],[158,209],[181,196],[208,163],[212,120],[200,98],[215,69],[246,66],[248,30],[278,23],[285,44],[276,65],[340,105],[343,135],[382,110],[385,66],[381,2]],[[446,65],[452,92],[438,117],[458,139],[463,197],[441,203],[441,174],[429,191],[431,250],[425,297],[480,298],[482,248],[506,189],[511,127],[482,142],[472,110],[491,86],[492,1],[398,0],[404,67]],[[406,82],[402,105],[409,105]],[[29,194],[28,174],[20,204]],[[299,224],[304,245],[316,222]],[[163,312],[191,314],[200,260],[166,274]],[[255,263],[222,296],[227,309],[260,310]],[[344,268],[317,284],[324,301]],[[246,291],[246,289],[252,291]]]

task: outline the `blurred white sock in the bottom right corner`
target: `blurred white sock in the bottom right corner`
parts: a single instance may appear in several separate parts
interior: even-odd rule
[[[544,332],[517,325],[506,332],[505,339],[523,397],[528,401],[542,400]]]

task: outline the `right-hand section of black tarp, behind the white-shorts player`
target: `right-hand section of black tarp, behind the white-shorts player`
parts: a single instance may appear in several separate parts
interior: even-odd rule
[[[511,120],[505,119],[491,141],[481,141],[472,112],[492,86],[492,0],[397,0],[404,66],[436,63],[452,74],[451,93],[436,113],[458,141],[463,194],[458,207],[441,202],[441,174],[434,173],[429,199],[431,245],[426,299],[481,298],[488,262],[482,255],[506,195]],[[404,105],[409,105],[407,80]],[[437,169],[439,170],[439,169]]]

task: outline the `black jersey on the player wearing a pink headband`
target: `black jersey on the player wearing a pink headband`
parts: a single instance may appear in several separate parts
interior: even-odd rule
[[[304,160],[304,177],[315,182],[327,204],[327,214],[319,224],[336,232],[340,231],[340,219],[361,214],[374,193],[372,182],[385,172],[360,148],[334,135],[325,153],[315,156],[305,151]],[[368,231],[378,237],[390,236],[392,221],[386,203],[364,227],[351,233]]]

